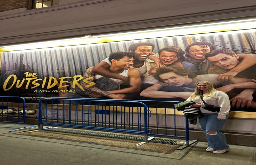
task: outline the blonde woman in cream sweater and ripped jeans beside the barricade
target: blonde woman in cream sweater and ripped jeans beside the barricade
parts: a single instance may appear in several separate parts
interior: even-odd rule
[[[202,108],[204,105],[200,96],[203,95],[203,100],[207,104],[220,107],[220,112],[211,112]],[[225,134],[222,128],[228,119],[230,110],[230,101],[228,95],[222,91],[214,89],[213,84],[208,81],[201,81],[197,83],[195,92],[190,95],[187,101],[196,102],[193,107],[200,107],[203,117],[199,118],[201,128],[206,134],[208,141],[209,152],[214,154],[223,154],[229,149],[226,142]]]

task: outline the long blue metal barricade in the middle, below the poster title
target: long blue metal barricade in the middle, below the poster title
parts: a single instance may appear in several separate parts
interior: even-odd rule
[[[139,101],[43,97],[39,100],[38,128],[43,125],[100,129],[144,134],[147,141],[147,106]]]

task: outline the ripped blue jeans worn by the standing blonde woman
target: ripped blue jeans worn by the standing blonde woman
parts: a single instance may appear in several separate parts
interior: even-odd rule
[[[218,113],[204,113],[203,115],[203,117],[199,118],[199,123],[206,134],[208,147],[211,147],[214,150],[229,148],[225,134],[222,132],[222,128],[228,119],[228,115],[226,115],[226,119],[223,121],[218,120]]]

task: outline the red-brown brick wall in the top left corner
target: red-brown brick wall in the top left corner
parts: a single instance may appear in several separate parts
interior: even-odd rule
[[[27,8],[27,0],[1,0],[0,12],[14,9]]]

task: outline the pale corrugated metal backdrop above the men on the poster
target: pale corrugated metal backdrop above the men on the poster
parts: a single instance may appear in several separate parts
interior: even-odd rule
[[[134,41],[2,52],[1,76],[2,73],[10,75],[24,73],[24,71],[37,73],[38,77],[42,79],[49,76],[58,79],[64,76],[72,77],[74,75],[83,75],[86,68],[95,66],[101,60],[108,57],[111,52],[127,51],[130,44],[136,42],[152,42],[156,44],[154,53],[157,53],[159,49],[169,45],[177,45],[185,50],[188,44],[198,41],[213,43],[215,49],[231,48],[234,49],[236,53],[244,53],[255,51],[255,40],[256,32],[254,30],[251,32],[219,32],[195,34],[191,36],[151,38]],[[21,53],[24,54],[23,57]],[[20,58],[23,58],[23,60],[21,59],[21,63]],[[20,68],[22,65],[24,70],[22,70],[22,67]]]

